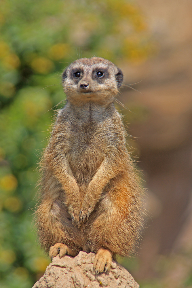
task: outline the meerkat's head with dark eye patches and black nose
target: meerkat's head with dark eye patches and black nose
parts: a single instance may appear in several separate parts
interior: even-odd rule
[[[123,73],[109,60],[93,57],[73,62],[62,73],[68,100],[75,104],[89,101],[108,104],[114,101]]]

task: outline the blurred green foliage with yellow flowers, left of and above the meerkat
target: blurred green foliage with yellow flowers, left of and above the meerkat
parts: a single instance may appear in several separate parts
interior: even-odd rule
[[[132,1],[1,0],[0,5],[0,286],[26,288],[49,264],[31,223],[39,155],[54,109],[65,98],[63,68],[93,55],[142,62],[153,45]]]

